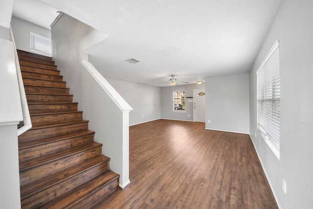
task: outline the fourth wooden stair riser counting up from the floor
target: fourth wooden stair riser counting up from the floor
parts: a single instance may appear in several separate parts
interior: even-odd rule
[[[39,158],[45,155],[60,153],[63,150],[83,144],[88,144],[91,143],[92,141],[94,141],[94,134],[88,134],[22,149],[19,150],[19,160],[20,163],[22,163],[24,161]]]

